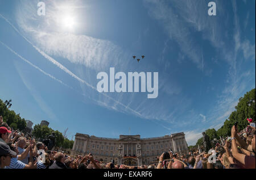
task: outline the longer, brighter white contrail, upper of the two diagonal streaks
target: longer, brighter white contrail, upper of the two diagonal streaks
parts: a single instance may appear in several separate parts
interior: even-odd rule
[[[88,82],[86,82],[86,81],[82,80],[81,78],[77,77],[74,73],[72,73],[70,70],[68,70],[65,66],[63,66],[63,65],[60,64],[58,61],[56,61],[55,59],[53,59],[51,56],[47,55],[45,52],[43,52],[43,51],[40,50],[38,47],[36,47],[35,45],[33,45],[33,44],[31,43],[31,41],[28,40],[26,37],[24,37],[22,34],[20,34],[19,30],[17,30],[17,28],[16,28],[8,19],[6,19],[2,14],[0,14],[0,16],[1,16],[3,19],[5,19],[5,21],[6,21],[7,23],[9,23],[10,26],[13,27],[14,30],[15,30],[16,32],[18,32],[18,34],[19,34],[20,36],[22,36],[28,43],[30,43],[30,44],[32,45],[32,47],[34,47],[34,48],[36,49],[36,51],[38,51],[38,52],[39,52],[42,56],[44,56],[48,61],[50,61],[50,62],[52,62],[53,64],[55,64],[58,68],[60,68],[61,70],[63,70],[65,73],[68,73],[68,74],[69,74],[70,76],[72,76],[73,78],[77,79],[78,81],[84,83],[85,85],[87,85],[87,86],[89,86],[90,88],[92,88],[92,89],[94,89],[94,90],[97,91],[96,87],[90,85]],[[106,95],[106,94],[102,94],[102,95],[104,95],[105,97],[107,97],[107,98],[109,98],[109,99],[112,99],[112,101],[114,101],[114,102],[120,104],[121,106],[123,106],[123,107],[125,107],[126,109],[130,110],[130,111],[133,112],[134,114],[137,114],[138,116],[140,116],[141,118],[143,118],[143,116],[142,116],[139,112],[133,110],[133,109],[130,108],[130,107],[125,106],[125,104],[123,104],[123,103],[121,103],[121,102],[115,100],[114,98],[110,97],[109,95]]]

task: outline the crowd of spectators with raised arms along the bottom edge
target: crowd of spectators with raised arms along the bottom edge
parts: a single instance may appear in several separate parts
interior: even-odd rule
[[[13,131],[0,116],[0,169],[255,169],[255,124],[216,144],[208,152],[179,154],[165,152],[157,164],[142,166],[116,165],[114,161],[95,160],[92,154],[73,157],[70,154],[48,150],[23,133]]]

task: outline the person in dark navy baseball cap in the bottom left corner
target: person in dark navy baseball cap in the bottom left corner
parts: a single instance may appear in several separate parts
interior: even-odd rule
[[[0,142],[0,169],[10,166],[12,157],[16,157],[16,153],[5,142]]]

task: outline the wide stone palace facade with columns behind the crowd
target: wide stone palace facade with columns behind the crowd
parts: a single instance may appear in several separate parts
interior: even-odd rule
[[[119,139],[89,136],[76,133],[72,156],[91,153],[97,160],[115,164],[144,165],[157,161],[163,152],[188,154],[183,132],[162,137],[141,138],[140,135],[120,135]]]

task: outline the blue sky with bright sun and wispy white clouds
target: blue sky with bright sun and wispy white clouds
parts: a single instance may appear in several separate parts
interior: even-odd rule
[[[0,1],[0,98],[64,132],[189,145],[255,88],[255,1]],[[146,56],[139,63],[133,55]],[[98,93],[97,74],[158,72],[158,98]],[[130,130],[129,130],[130,129]]]

